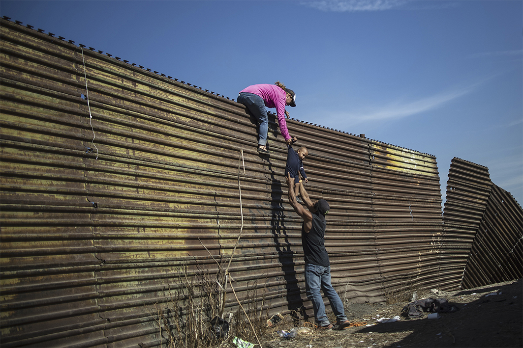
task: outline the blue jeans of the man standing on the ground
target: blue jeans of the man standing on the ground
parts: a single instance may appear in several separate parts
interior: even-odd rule
[[[306,263],[305,265],[305,290],[307,298],[312,302],[314,309],[314,316],[316,322],[321,326],[329,325],[329,320],[325,315],[325,304],[320,290],[323,288],[323,293],[327,296],[329,303],[331,303],[332,311],[336,315],[337,323],[347,320],[343,302],[339,298],[338,293],[331,285],[331,267],[323,267]]]

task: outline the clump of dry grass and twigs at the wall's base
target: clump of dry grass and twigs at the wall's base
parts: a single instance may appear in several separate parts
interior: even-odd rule
[[[219,284],[224,278],[222,274],[199,270],[189,275],[186,269],[179,275],[176,286],[169,286],[166,301],[156,303],[150,310],[161,346],[220,347],[227,346],[234,337],[257,342],[258,337],[267,334],[269,306],[265,301],[265,287],[261,289],[261,296],[257,296],[255,282],[242,293],[243,298],[237,298],[231,282],[228,292],[234,294],[238,308],[222,318],[224,286]]]

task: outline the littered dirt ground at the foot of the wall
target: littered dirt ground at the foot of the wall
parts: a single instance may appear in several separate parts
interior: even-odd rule
[[[349,304],[345,311],[350,322],[367,325],[342,331],[312,331],[297,328],[293,339],[283,339],[278,330],[289,330],[286,318],[271,328],[260,343],[264,348],[380,348],[380,347],[523,347],[523,290],[521,279],[478,287],[472,290],[426,291],[418,298],[444,297],[459,308],[441,313],[438,319],[407,319],[402,309],[408,302],[391,305]],[[496,295],[489,295],[496,293]],[[488,295],[488,296],[487,296]],[[327,307],[328,309],[328,307]],[[332,315],[332,313],[331,313]],[[395,322],[378,323],[380,318],[400,316]],[[333,318],[329,318],[334,321]],[[335,322],[335,321],[334,321]],[[255,342],[253,342],[255,343]],[[231,347],[235,345],[231,344]]]

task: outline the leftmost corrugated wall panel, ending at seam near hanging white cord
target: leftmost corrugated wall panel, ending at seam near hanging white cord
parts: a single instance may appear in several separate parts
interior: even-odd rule
[[[2,26],[2,344],[101,343],[75,76],[31,37]]]

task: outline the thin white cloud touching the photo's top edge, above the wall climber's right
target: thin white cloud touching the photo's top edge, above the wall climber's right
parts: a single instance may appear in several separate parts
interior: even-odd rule
[[[325,12],[361,12],[361,11],[383,11],[403,6],[403,0],[324,0],[324,1],[302,1],[301,4],[316,8]]]

